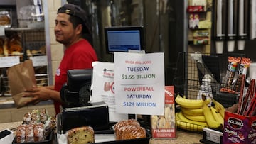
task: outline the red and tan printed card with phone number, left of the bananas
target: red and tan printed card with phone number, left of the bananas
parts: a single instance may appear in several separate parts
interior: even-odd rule
[[[151,116],[152,138],[175,138],[174,86],[165,87],[164,116]]]

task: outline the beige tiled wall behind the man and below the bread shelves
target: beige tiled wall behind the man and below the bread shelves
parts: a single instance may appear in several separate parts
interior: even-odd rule
[[[50,52],[52,60],[52,74],[53,83],[55,70],[57,70],[60,60],[63,57],[63,45],[56,42],[54,35],[55,17],[57,16],[56,11],[61,6],[61,0],[48,0],[48,18],[50,27]],[[32,111],[33,109],[47,109],[50,116],[55,116],[55,110],[53,104],[48,105],[36,105],[36,106],[26,106],[21,109],[9,108],[0,109],[0,123],[8,123],[14,121],[23,121],[23,115]]]

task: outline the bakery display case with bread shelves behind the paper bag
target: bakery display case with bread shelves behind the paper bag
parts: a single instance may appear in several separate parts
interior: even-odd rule
[[[44,24],[48,23],[48,17],[44,17],[48,15],[47,1],[0,1],[0,5],[10,10],[9,18],[13,21],[11,26],[4,26],[0,36],[0,99],[5,100],[11,99],[6,70],[12,65],[31,59],[38,87],[51,84],[52,70],[50,54],[47,53],[50,48],[49,26]],[[28,7],[34,10],[38,7],[41,14],[33,15],[33,18],[21,18],[19,15],[22,9]],[[34,10],[28,11],[28,15]]]

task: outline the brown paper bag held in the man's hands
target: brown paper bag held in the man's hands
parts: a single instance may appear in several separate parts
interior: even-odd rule
[[[24,90],[36,86],[35,71],[32,60],[26,60],[7,69],[7,77],[11,89],[11,96],[17,108],[26,106],[26,101],[32,97],[22,97]]]

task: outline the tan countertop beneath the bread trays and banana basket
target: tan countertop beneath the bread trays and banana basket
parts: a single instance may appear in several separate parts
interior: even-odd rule
[[[0,131],[9,128],[13,129],[18,127],[22,121],[12,123],[0,123]],[[170,140],[150,140],[149,144],[171,144],[171,143],[184,143],[184,144],[201,144],[199,140],[203,138],[201,133],[191,133],[186,131],[177,131],[176,138]]]

